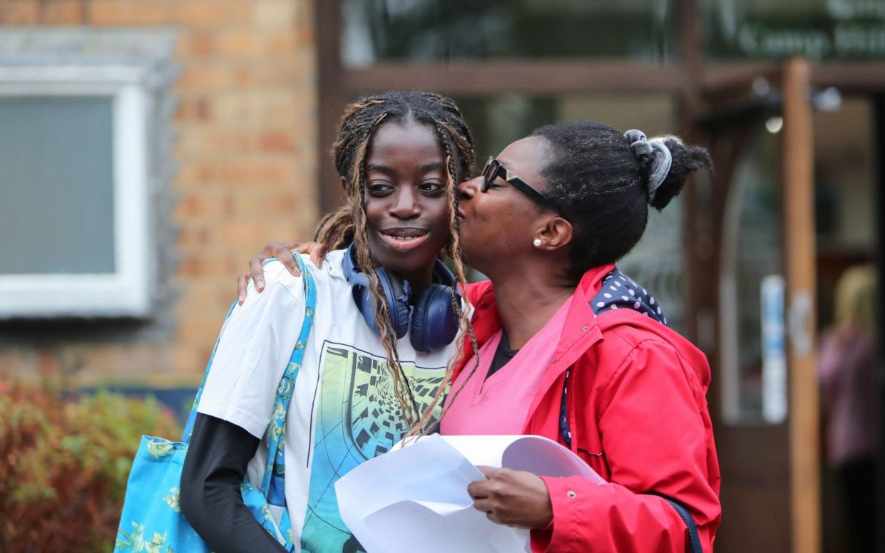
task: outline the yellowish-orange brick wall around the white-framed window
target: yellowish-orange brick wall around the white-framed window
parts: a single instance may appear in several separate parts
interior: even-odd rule
[[[36,325],[0,344],[0,368],[85,385],[195,382],[235,275],[268,239],[307,238],[318,218],[311,0],[0,0],[0,26],[170,27],[181,67],[171,324],[85,334]]]

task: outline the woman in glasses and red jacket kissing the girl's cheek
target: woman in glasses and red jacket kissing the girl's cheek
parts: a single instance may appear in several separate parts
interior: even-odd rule
[[[709,165],[671,137],[576,121],[513,142],[458,187],[466,259],[490,280],[466,288],[478,362],[466,342],[441,432],[540,434],[609,482],[480,467],[475,508],[530,528],[535,551],[681,553],[691,534],[691,550],[712,551],[709,365],[614,265],[648,206]]]

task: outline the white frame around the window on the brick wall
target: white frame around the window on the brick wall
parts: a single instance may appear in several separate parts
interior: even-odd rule
[[[0,67],[0,96],[112,98],[114,194],[113,272],[0,274],[0,319],[150,313],[150,94],[143,81],[142,68],[125,65]]]

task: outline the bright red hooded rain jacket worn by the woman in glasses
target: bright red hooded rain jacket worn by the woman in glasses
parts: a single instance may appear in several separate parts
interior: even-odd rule
[[[707,411],[710,367],[704,354],[637,311],[604,311],[589,302],[614,265],[585,273],[574,291],[554,358],[529,408],[523,434],[566,445],[559,430],[566,368],[571,449],[610,483],[543,477],[552,527],[532,531],[532,550],[574,553],[686,551],[685,505],[705,553],[720,524],[720,471]],[[613,289],[613,288],[612,288]],[[467,287],[478,344],[501,328],[486,280]],[[473,355],[469,341],[457,377]],[[567,447],[567,446],[566,446]]]

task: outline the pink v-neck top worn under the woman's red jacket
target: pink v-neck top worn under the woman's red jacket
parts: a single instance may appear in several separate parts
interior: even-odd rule
[[[559,336],[566,324],[569,297],[517,354],[486,379],[501,342],[498,330],[480,348],[480,366],[470,375],[472,358],[452,384],[450,403],[440,426],[442,434],[522,434],[528,407],[544,372],[553,360]],[[468,379],[468,375],[470,375]],[[461,388],[461,387],[464,388]],[[458,392],[458,390],[460,390]],[[455,394],[458,393],[458,396]]]

